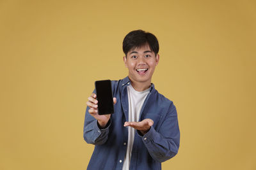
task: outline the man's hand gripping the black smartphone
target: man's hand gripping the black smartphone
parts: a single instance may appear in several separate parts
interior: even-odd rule
[[[90,97],[88,97],[88,102],[86,103],[87,106],[90,108],[88,112],[92,117],[98,120],[98,123],[101,128],[104,128],[108,124],[108,120],[110,118],[110,114],[108,115],[99,115],[98,114],[98,101],[97,101],[97,96],[96,94],[92,93]],[[116,104],[116,97],[113,98],[114,104]]]

